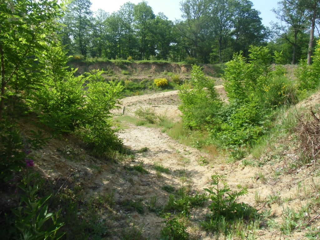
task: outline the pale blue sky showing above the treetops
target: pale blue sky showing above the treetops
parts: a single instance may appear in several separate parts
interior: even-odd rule
[[[277,2],[279,0],[251,0],[253,8],[260,11],[260,17],[262,18],[262,24],[266,27],[270,27],[270,22],[276,22],[276,17],[271,11],[272,8],[277,8]],[[120,9],[126,2],[132,2],[138,4],[142,0],[91,0],[93,12],[99,8],[106,12],[112,13]],[[152,8],[154,14],[163,12],[169,20],[181,19],[180,0],[146,0],[148,5]]]

